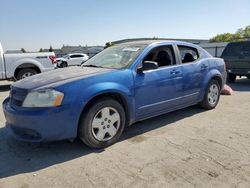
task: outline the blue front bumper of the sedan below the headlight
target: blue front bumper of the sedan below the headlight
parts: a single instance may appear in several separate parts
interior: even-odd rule
[[[78,119],[67,105],[53,108],[12,107],[3,102],[6,128],[17,140],[47,142],[77,136]]]

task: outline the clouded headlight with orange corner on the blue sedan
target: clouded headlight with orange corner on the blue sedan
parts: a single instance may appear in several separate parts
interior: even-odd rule
[[[62,103],[64,94],[62,92],[44,89],[28,93],[23,101],[23,107],[52,107]]]

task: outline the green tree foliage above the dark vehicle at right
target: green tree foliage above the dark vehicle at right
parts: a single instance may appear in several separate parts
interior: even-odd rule
[[[223,33],[216,35],[210,39],[210,42],[232,42],[232,41],[242,41],[244,39],[250,38],[250,26],[240,28],[236,33]]]

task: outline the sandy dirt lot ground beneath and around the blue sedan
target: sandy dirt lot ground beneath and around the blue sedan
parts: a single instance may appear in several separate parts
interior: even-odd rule
[[[0,82],[0,101],[8,82]],[[0,187],[250,187],[250,81],[218,107],[196,106],[137,123],[121,141],[91,150],[80,141],[13,140],[0,111]]]

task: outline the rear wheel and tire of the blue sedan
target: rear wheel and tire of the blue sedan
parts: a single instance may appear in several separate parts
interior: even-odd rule
[[[216,80],[211,80],[205,91],[205,95],[200,105],[206,110],[215,108],[220,100],[220,85]]]

